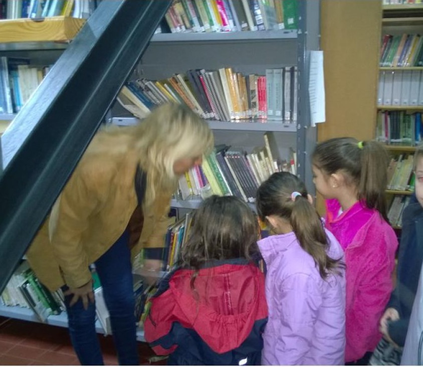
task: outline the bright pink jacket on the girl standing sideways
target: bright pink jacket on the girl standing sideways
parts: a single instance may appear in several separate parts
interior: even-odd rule
[[[392,291],[398,240],[374,209],[356,203],[339,214],[336,199],[326,201],[326,228],[345,250],[346,349],[345,361],[372,351],[381,338],[379,319]]]

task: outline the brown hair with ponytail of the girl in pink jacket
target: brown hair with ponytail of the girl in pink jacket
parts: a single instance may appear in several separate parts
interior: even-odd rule
[[[329,139],[316,145],[312,162],[326,175],[344,173],[347,183],[357,188],[357,200],[379,211],[388,222],[385,198],[388,153],[382,144],[359,142],[351,137]]]

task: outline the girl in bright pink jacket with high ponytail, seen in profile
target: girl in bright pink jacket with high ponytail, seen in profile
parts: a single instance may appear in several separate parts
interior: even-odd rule
[[[398,246],[386,216],[388,156],[376,141],[334,138],[317,144],[312,163],[326,228],[345,251],[345,362],[367,364],[381,337]]]

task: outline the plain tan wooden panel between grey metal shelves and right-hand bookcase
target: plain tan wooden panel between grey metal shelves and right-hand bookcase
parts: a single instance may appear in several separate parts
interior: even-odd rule
[[[381,19],[380,1],[322,0],[326,122],[318,124],[318,141],[374,138]],[[325,210],[320,196],[316,207]]]

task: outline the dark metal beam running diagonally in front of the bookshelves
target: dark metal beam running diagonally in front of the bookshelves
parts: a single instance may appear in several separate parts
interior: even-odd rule
[[[169,5],[101,2],[2,136],[0,292]]]

